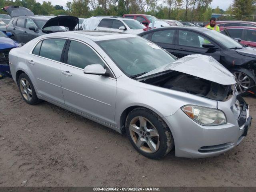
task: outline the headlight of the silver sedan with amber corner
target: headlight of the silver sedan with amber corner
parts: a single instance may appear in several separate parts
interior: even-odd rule
[[[181,109],[187,116],[200,125],[214,126],[227,123],[224,112],[218,109],[195,105],[186,105]]]

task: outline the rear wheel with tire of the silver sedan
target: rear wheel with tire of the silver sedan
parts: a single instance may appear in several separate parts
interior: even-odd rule
[[[26,101],[28,104],[35,105],[40,102],[40,100],[36,96],[36,91],[30,78],[25,73],[22,73],[19,76],[18,87],[20,89],[20,94],[23,100]]]

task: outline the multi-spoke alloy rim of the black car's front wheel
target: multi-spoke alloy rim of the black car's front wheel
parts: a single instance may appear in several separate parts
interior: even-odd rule
[[[246,92],[250,87],[250,78],[242,72],[234,72],[233,75],[236,77],[235,88],[239,94]]]

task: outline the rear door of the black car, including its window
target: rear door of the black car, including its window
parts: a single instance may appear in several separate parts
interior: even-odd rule
[[[152,33],[150,40],[171,54],[175,53],[176,30],[159,30]]]

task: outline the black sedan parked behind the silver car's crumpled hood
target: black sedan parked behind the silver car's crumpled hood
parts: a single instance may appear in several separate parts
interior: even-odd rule
[[[207,28],[163,27],[138,34],[178,58],[204,54],[215,58],[237,79],[236,89],[243,95],[256,92],[256,49]]]

